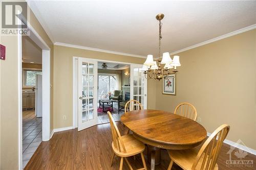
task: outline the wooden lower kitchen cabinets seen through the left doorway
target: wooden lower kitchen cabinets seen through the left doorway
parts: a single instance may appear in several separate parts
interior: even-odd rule
[[[23,109],[35,108],[35,92],[22,93],[22,108]]]

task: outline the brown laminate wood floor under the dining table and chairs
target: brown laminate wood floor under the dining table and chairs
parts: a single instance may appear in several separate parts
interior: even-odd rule
[[[117,122],[117,125],[121,134],[124,134],[126,129],[120,122]],[[113,166],[110,167],[113,153],[111,142],[110,124],[97,125],[80,132],[77,132],[77,129],[57,132],[51,140],[41,142],[25,169],[119,169],[120,158],[115,158]],[[219,169],[256,168],[256,156],[249,153],[244,159],[253,160],[253,167],[227,167],[229,149],[230,146],[224,143],[218,159]],[[240,160],[234,155],[236,150],[232,152],[232,159]],[[167,152],[162,150],[161,157],[161,163],[156,165],[156,169],[167,169],[170,161]],[[143,166],[139,157],[136,160],[131,157],[129,161],[134,169]],[[147,168],[150,169],[149,163]],[[123,169],[129,169],[126,163]],[[181,168],[174,165],[172,169]]]

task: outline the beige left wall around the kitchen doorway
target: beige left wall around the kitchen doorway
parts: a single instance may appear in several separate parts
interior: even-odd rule
[[[0,3],[2,5],[2,3]],[[0,5],[0,9],[2,6]],[[30,10],[30,9],[29,9]],[[53,43],[30,11],[30,24],[51,48],[51,82],[53,82]],[[1,123],[0,123],[0,169],[18,169],[18,43],[16,36],[1,36],[6,46],[6,60],[0,61],[1,74]],[[12,68],[12,69],[10,69]],[[51,99],[53,99],[51,91]],[[53,118],[51,100],[51,119]],[[51,122],[51,129],[53,122]],[[8,129],[8,131],[7,131]],[[10,133],[11,132],[11,133]]]

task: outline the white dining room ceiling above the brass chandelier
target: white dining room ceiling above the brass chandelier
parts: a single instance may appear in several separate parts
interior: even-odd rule
[[[146,56],[254,25],[256,1],[29,1],[53,42]]]

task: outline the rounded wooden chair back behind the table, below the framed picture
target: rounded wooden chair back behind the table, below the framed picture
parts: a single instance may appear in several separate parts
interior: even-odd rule
[[[178,114],[195,121],[197,120],[197,109],[195,108],[195,106],[191,105],[190,103],[179,104],[176,107],[174,114]]]

